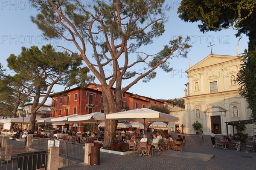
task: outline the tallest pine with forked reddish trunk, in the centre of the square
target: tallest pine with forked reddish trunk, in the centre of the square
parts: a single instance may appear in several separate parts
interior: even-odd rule
[[[140,51],[153,43],[165,31],[166,12],[170,7],[164,0],[32,0],[39,14],[32,17],[46,38],[62,38],[73,43],[102,86],[105,114],[119,112],[122,93],[138,81],[148,82],[160,67],[170,72],[169,59],[186,57],[190,47],[187,40],[172,40],[155,54]],[[67,51],[67,49],[62,47]],[[87,49],[93,49],[93,54]],[[137,66],[137,67],[136,67]],[[110,69],[111,68],[111,69]],[[141,69],[138,69],[141,68]],[[107,75],[105,69],[111,70]],[[109,72],[108,72],[109,73]],[[129,81],[122,88],[123,80]],[[116,94],[111,88],[115,86]],[[107,120],[104,145],[112,146],[117,121]]]

